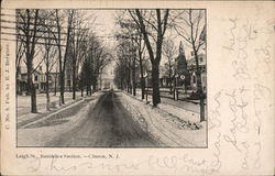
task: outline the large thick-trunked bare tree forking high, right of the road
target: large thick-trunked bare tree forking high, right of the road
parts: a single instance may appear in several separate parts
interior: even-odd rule
[[[155,107],[161,102],[158,69],[162,59],[164,34],[168,26],[169,10],[135,9],[135,11],[129,10],[129,13],[140,28],[152,64],[153,106]]]

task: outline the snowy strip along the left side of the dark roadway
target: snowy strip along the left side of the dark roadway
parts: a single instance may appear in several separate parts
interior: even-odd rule
[[[58,120],[53,119],[53,117],[58,118],[58,116],[50,114],[38,121],[22,127],[22,129],[18,129],[18,146],[45,146],[45,144],[52,141],[55,136],[74,129],[85,117],[87,117],[88,110],[97,103],[98,97],[101,95],[102,92],[95,92],[91,97],[87,97],[77,103],[54,112],[55,114],[61,114],[62,118]],[[89,99],[90,101],[88,101]],[[77,106],[78,103],[81,103],[81,108],[76,114],[72,112],[73,116],[62,116],[67,109],[72,109],[72,107]],[[70,112],[68,111],[67,113]],[[52,119],[47,120],[50,118]],[[47,123],[48,121],[52,121],[52,123]]]

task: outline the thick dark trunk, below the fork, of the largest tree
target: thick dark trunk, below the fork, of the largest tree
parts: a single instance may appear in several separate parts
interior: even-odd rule
[[[160,72],[158,72],[158,64],[152,64],[152,87],[153,87],[153,106],[156,107],[157,103],[161,102],[160,96]]]

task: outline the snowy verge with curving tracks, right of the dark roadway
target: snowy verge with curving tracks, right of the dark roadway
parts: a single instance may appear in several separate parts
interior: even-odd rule
[[[199,123],[198,114],[164,103],[160,103],[157,108],[153,108],[136,97],[125,92],[121,92],[120,95],[122,105],[143,128],[146,128],[146,131],[153,138],[162,141],[163,146],[207,146],[206,122]],[[187,127],[184,128],[183,125]]]

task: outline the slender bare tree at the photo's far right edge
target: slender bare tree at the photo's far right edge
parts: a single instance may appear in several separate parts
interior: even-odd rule
[[[204,91],[201,85],[201,72],[199,67],[198,53],[202,45],[205,45],[206,36],[206,21],[205,10],[186,10],[184,13],[175,14],[180,15],[177,22],[174,23],[176,32],[190,45],[195,62],[196,62],[196,78],[197,78],[197,95],[200,99],[200,121],[205,121],[205,103]]]

